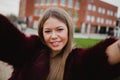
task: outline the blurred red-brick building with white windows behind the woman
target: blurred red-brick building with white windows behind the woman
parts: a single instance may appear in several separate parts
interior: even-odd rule
[[[64,8],[73,18],[74,30],[81,33],[107,33],[116,27],[117,7],[100,0],[21,0],[19,17],[37,28],[48,7]]]

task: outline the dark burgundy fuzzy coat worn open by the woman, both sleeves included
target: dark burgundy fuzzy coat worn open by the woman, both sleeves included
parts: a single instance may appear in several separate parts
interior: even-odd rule
[[[69,54],[64,80],[113,80],[120,76],[120,63],[109,65],[105,49],[115,42],[108,38],[89,48],[75,48]],[[36,35],[25,36],[0,15],[0,60],[14,66],[9,80],[46,80],[49,52]]]

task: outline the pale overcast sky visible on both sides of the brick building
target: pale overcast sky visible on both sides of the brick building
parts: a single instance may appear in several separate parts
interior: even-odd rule
[[[102,0],[107,3],[113,4],[118,8],[118,17],[120,17],[120,0]],[[0,0],[0,13],[2,14],[15,14],[18,16],[20,0]]]

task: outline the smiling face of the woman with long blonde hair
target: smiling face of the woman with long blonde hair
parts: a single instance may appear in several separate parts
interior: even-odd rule
[[[60,52],[68,41],[67,26],[57,18],[50,17],[43,25],[43,37],[53,53]]]

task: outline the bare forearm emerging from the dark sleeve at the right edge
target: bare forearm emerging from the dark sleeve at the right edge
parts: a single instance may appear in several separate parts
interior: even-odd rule
[[[120,63],[120,40],[117,40],[113,44],[107,47],[106,53],[108,56],[108,62],[113,65]]]

